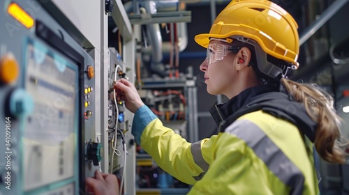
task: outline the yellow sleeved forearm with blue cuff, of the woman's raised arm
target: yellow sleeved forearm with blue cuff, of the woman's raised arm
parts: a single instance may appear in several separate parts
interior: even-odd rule
[[[191,143],[164,127],[149,108],[142,107],[135,113],[133,135],[158,166],[182,182],[193,184],[193,177],[203,172],[194,162]]]

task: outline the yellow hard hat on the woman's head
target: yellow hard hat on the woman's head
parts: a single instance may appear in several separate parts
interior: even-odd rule
[[[271,1],[233,0],[216,17],[209,33],[195,36],[195,41],[207,48],[209,38],[243,36],[258,42],[265,53],[297,69],[297,28],[293,17]]]

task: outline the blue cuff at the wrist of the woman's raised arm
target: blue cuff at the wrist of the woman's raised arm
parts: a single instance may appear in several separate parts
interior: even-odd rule
[[[135,111],[135,116],[133,117],[132,122],[132,134],[138,145],[140,145],[140,137],[142,136],[145,127],[147,127],[147,125],[155,118],[157,118],[155,114],[146,105]]]

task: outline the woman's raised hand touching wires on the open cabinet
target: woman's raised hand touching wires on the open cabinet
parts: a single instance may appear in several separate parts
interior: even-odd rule
[[[140,107],[144,105],[138,95],[138,91],[135,86],[126,79],[119,79],[114,82],[114,89],[116,91],[117,100],[125,101],[126,108],[135,113]]]

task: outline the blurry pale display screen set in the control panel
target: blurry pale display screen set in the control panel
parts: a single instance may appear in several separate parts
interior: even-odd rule
[[[24,87],[34,111],[23,127],[24,190],[77,182],[77,65],[29,41],[25,66]]]

